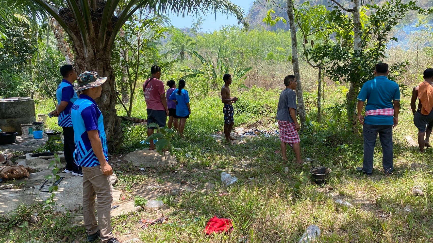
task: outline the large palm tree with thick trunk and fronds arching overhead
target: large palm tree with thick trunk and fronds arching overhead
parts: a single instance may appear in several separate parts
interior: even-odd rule
[[[239,24],[248,27],[244,11],[229,0],[17,0],[13,4],[39,7],[61,25],[69,35],[78,73],[96,70],[100,76],[108,77],[97,103],[104,117],[110,150],[118,148],[123,137],[121,119],[116,114],[110,59],[116,35],[133,13],[140,8],[181,15],[219,11],[233,14]]]

